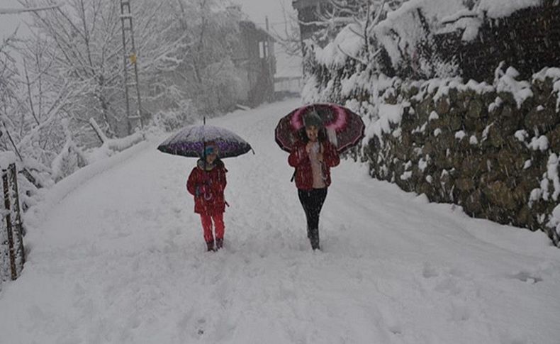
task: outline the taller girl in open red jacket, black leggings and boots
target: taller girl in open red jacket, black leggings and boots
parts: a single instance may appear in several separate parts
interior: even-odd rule
[[[340,163],[337,149],[327,139],[323,121],[316,113],[303,118],[305,131],[296,143],[288,163],[296,167],[296,187],[307,218],[307,237],[311,248],[320,250],[319,214],[330,186],[330,167]]]

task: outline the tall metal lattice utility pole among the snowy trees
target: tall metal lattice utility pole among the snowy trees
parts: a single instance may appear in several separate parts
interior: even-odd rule
[[[140,84],[138,83],[138,55],[134,44],[133,15],[130,11],[130,1],[121,0],[121,28],[123,30],[123,84],[125,87],[126,118],[128,120],[128,134],[132,134],[136,128],[142,128],[142,116],[140,104]],[[130,92],[136,91],[135,109],[134,96]],[[134,111],[135,110],[135,111]]]

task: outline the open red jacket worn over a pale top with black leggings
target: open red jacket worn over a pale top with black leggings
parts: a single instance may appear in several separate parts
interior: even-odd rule
[[[296,167],[296,187],[302,190],[313,189],[313,172],[311,171],[311,160],[306,150],[307,143],[300,141],[288,157],[291,167]],[[340,164],[337,149],[328,140],[321,143],[323,146],[323,173],[325,174],[325,185],[330,185],[330,167]]]

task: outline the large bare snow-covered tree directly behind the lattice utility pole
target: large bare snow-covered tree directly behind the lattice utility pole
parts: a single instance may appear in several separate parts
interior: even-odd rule
[[[37,6],[23,0],[25,6]],[[181,47],[169,35],[172,9],[170,1],[153,6],[149,1],[133,3],[138,63],[142,77],[177,65]],[[108,135],[125,132],[123,96],[123,41],[121,9],[118,1],[72,0],[65,6],[33,14],[32,29],[36,40],[43,41],[53,84],[69,83],[82,89],[79,111],[69,113],[86,123],[95,118],[103,123]],[[40,73],[40,71],[36,71]]]

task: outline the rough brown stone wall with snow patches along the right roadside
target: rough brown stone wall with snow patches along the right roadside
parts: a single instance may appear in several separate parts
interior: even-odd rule
[[[371,175],[471,216],[542,230],[560,247],[556,72],[530,82],[509,68],[492,85],[403,83],[369,126],[363,152]]]

